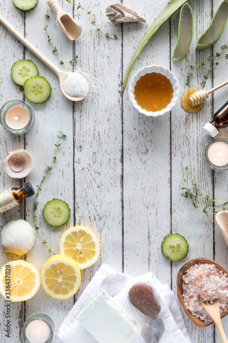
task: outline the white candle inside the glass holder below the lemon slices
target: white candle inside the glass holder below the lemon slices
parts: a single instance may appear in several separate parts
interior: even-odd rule
[[[27,324],[25,335],[31,343],[45,343],[50,336],[50,328],[44,320],[33,320]]]

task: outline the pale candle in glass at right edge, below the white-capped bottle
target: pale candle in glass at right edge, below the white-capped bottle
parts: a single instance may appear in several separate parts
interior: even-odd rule
[[[210,145],[207,157],[213,165],[223,166],[228,163],[228,144],[223,141],[216,141]]]

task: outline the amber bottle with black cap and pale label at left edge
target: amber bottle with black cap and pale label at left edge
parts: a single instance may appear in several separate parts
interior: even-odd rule
[[[12,187],[0,193],[0,213],[12,209],[21,204],[23,199],[34,196],[35,191],[30,182],[24,183],[21,187]]]

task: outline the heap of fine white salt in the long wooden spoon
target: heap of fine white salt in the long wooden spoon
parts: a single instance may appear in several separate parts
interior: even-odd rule
[[[86,78],[79,73],[70,73],[62,85],[64,91],[71,97],[86,97],[89,90]]]

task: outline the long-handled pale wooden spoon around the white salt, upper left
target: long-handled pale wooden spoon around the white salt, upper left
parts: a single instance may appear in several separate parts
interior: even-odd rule
[[[73,74],[73,72],[66,72],[66,71],[62,71],[60,69],[58,69],[57,67],[55,67],[55,64],[51,63],[47,57],[45,57],[44,55],[42,55],[40,53],[40,51],[38,51],[38,49],[36,49],[36,47],[34,47],[33,45],[31,45],[31,43],[28,42],[27,39],[25,39],[21,34],[19,34],[16,29],[14,29],[14,27],[12,27],[12,25],[10,25],[10,23],[8,23],[8,21],[6,21],[5,19],[3,19],[2,16],[0,16],[0,23],[5,26],[11,33],[14,37],[16,37],[18,40],[20,40],[21,43],[23,43],[23,45],[25,45],[25,47],[27,47],[27,49],[29,49],[32,54],[34,54],[36,57],[38,57],[43,63],[45,63],[47,65],[47,67],[49,67],[59,78],[59,81],[60,81],[60,88],[61,88],[61,91],[63,93],[63,95],[65,97],[67,97],[67,99],[73,101],[73,102],[79,102],[81,100],[83,100],[86,95],[88,95],[88,91],[89,91],[89,84],[88,84],[88,81],[85,79],[85,82],[87,84],[87,93],[83,96],[83,97],[72,97],[71,95],[68,95],[68,93],[66,93],[66,91],[64,90],[64,87],[63,87],[63,82],[64,80],[66,79],[66,77],[68,75],[71,75]],[[84,76],[83,76],[84,77]]]

